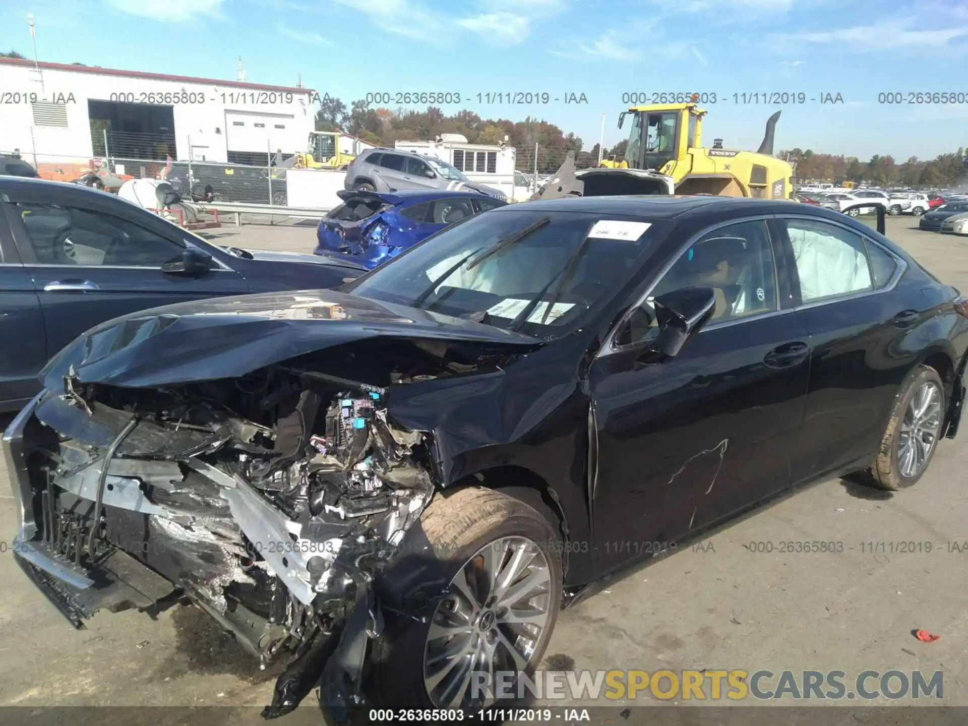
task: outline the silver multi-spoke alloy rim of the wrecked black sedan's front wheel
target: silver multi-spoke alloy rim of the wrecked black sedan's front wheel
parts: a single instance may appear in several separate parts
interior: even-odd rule
[[[499,674],[522,673],[531,665],[551,597],[548,559],[527,537],[501,537],[478,550],[451,580],[427,634],[424,686],[434,704],[493,704],[503,687]]]

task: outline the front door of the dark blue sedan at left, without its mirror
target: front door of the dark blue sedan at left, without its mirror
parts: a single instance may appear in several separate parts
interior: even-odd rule
[[[116,197],[51,185],[8,198],[5,214],[40,297],[48,355],[110,318],[248,292],[245,279],[221,254],[200,275],[162,272],[161,265],[188,246],[215,251]]]

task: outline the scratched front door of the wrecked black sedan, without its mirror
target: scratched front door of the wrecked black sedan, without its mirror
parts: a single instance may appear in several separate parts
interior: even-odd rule
[[[603,569],[671,546],[789,483],[809,337],[792,311],[779,310],[766,222],[707,232],[653,295],[693,286],[713,287],[716,311],[678,356],[636,362],[658,334],[647,300],[620,331],[620,348],[591,368],[591,506]]]

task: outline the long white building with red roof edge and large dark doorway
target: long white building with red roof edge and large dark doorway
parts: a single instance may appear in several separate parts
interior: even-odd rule
[[[0,151],[40,163],[170,154],[264,165],[306,150],[318,101],[308,88],[14,58],[0,58],[0,93]]]

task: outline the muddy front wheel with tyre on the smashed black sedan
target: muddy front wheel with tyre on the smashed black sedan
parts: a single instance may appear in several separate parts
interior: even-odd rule
[[[528,504],[481,487],[437,495],[422,525],[449,585],[427,622],[401,619],[375,644],[373,698],[477,711],[497,694],[476,684],[533,673],[544,654],[561,601],[558,536]]]

